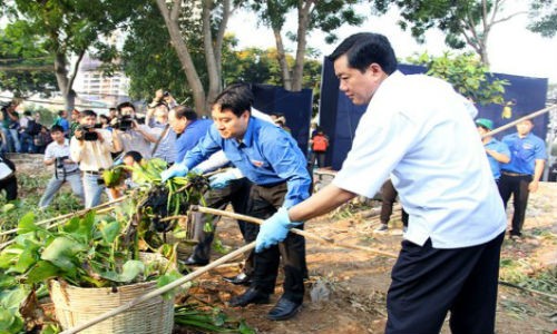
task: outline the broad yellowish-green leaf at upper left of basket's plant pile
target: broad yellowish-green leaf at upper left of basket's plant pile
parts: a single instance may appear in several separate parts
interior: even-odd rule
[[[68,237],[61,236],[48,245],[42,252],[41,258],[50,261],[53,265],[65,272],[75,271],[77,254],[87,250],[87,247]]]

